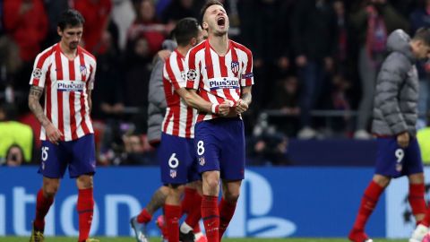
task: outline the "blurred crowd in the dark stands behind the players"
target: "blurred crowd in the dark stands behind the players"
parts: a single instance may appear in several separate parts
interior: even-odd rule
[[[288,138],[371,139],[376,73],[392,30],[430,27],[430,0],[224,0],[229,37],[254,54],[245,114],[255,164],[288,164]],[[39,123],[27,108],[35,56],[59,39],[67,8],[85,18],[82,46],[98,60],[92,118],[100,165],[157,164],[146,140],[152,60],[204,0],[1,0],[0,163],[39,162]],[[430,65],[418,63],[419,126]]]

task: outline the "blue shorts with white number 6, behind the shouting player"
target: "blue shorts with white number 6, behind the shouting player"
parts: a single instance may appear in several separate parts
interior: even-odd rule
[[[182,185],[200,180],[193,139],[161,133],[158,149],[163,184]]]

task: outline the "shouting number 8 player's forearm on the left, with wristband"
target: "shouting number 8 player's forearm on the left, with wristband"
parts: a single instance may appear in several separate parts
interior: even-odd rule
[[[221,104],[211,103],[200,97],[196,90],[186,90],[185,88],[180,88],[176,90],[176,93],[185,100],[186,105],[193,107],[199,111],[212,113],[219,115],[221,117],[226,117],[229,111],[228,102],[223,102]]]

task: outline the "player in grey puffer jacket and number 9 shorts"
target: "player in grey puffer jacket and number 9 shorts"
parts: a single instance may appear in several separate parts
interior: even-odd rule
[[[366,221],[391,178],[408,176],[409,204],[417,222],[426,213],[423,164],[415,127],[418,98],[415,63],[430,56],[430,29],[417,30],[412,39],[403,30],[395,30],[387,40],[387,47],[391,53],[383,61],[374,96],[372,132],[378,143],[376,169],[348,236],[354,242],[372,241],[365,233]]]

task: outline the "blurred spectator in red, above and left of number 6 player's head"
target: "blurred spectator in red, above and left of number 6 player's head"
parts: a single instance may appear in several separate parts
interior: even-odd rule
[[[170,30],[157,20],[152,0],[141,0],[135,7],[137,17],[128,30],[127,42],[135,43],[143,39],[148,46],[150,57],[154,56],[161,49],[161,44]]]

